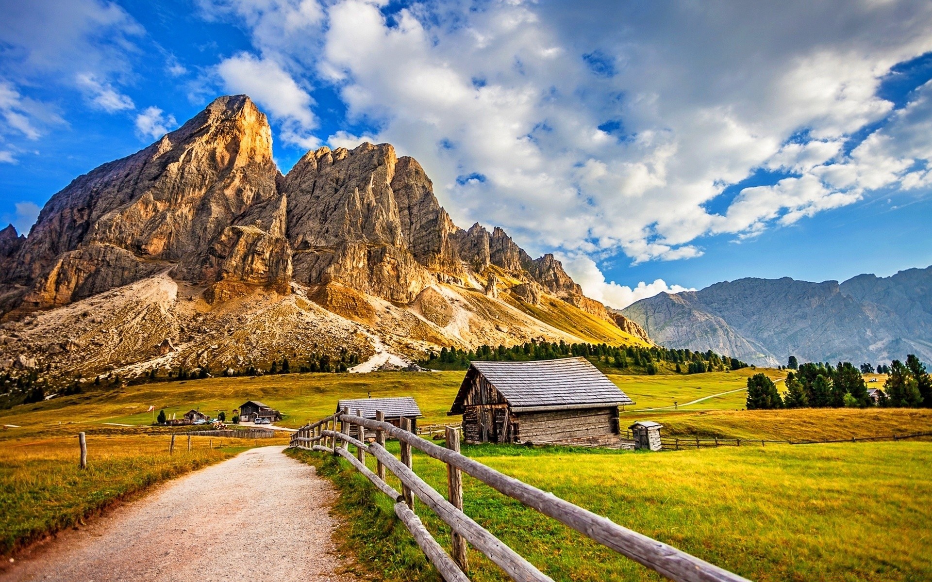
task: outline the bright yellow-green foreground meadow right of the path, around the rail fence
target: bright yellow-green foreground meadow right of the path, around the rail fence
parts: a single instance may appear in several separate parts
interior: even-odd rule
[[[390,449],[397,443],[390,441]],[[759,581],[932,577],[932,443],[871,442],[677,453],[465,446],[463,453],[612,521]],[[342,546],[376,579],[438,580],[392,501],[349,464],[291,450],[336,482],[348,521]],[[368,464],[374,466],[371,455]],[[445,493],[445,467],[416,453],[414,467]],[[397,488],[397,481],[395,481]],[[659,580],[533,509],[464,478],[465,511],[555,580]],[[449,548],[430,509],[418,515]],[[470,551],[471,579],[502,580]]]

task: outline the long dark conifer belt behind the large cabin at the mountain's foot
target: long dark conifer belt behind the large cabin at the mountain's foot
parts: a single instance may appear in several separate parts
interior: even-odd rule
[[[608,344],[568,344],[559,342],[536,342],[512,345],[480,345],[473,349],[457,349],[456,346],[443,347],[440,353],[430,352],[427,359],[418,361],[423,368],[443,370],[465,370],[470,362],[479,361],[531,361],[541,359],[560,359],[583,357],[594,361],[600,367],[627,370],[637,368],[648,374],[658,371],[657,364],[673,364],[680,373],[702,373],[747,368],[739,359],[720,356],[712,350],[693,352],[689,349],[667,349],[655,345],[626,347]]]

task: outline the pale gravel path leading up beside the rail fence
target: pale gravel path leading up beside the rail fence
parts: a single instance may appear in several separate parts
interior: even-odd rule
[[[13,580],[351,582],[331,539],[336,492],[261,447],[171,480],[0,575]],[[300,494],[295,494],[300,492]]]

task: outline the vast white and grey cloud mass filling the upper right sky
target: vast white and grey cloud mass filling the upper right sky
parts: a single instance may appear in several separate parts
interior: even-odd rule
[[[330,83],[350,123],[377,129],[365,139],[418,158],[458,223],[500,224],[531,249],[688,259],[701,237],[753,237],[932,180],[932,131],[907,138],[927,116],[878,97],[893,65],[932,50],[927,3],[201,5],[249,32],[258,56],[221,74],[266,91],[286,140],[315,142],[309,82]],[[758,169],[790,175],[707,210]]]

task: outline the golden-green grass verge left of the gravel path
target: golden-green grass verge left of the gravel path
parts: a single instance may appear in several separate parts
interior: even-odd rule
[[[225,460],[248,446],[235,439],[89,434],[88,467],[80,469],[75,435],[7,440],[0,447],[0,554],[83,523],[159,481]]]

